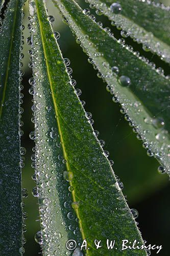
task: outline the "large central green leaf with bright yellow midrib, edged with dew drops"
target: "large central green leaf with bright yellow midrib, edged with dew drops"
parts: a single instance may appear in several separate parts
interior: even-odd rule
[[[42,0],[30,1],[33,39],[33,75],[36,177],[41,232],[36,240],[43,254],[64,255],[66,241],[87,239],[86,255],[106,255],[106,239],[142,243],[136,222],[115,178],[107,152],[103,151],[66,71]],[[77,91],[78,93],[78,91]],[[96,250],[94,239],[102,240]],[[74,255],[80,252],[76,249]],[[70,253],[70,252],[69,252]],[[126,250],[124,255],[146,255]]]

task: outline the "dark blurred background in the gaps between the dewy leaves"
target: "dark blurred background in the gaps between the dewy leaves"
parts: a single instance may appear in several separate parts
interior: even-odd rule
[[[49,1],[50,2],[50,1]],[[127,1],[128,2],[128,1]],[[167,1],[166,1],[167,2]],[[82,7],[88,5],[81,2]],[[28,25],[28,5],[26,4],[25,26]],[[82,90],[81,100],[86,101],[85,110],[90,111],[94,119],[94,129],[99,130],[100,139],[106,141],[105,150],[110,152],[110,159],[114,160],[114,172],[124,183],[124,195],[127,195],[128,204],[131,208],[136,208],[139,212],[137,222],[139,222],[142,237],[147,240],[147,244],[162,245],[163,249],[159,255],[169,256],[169,232],[170,232],[170,187],[168,177],[160,175],[157,171],[159,163],[147,156],[147,152],[142,148],[142,144],[137,140],[131,127],[124,116],[119,112],[119,105],[112,102],[111,95],[106,91],[106,83],[96,76],[96,71],[87,61],[87,56],[83,53],[70,30],[61,21],[61,16],[53,4],[48,4],[48,13],[56,17],[54,30],[59,31],[61,38],[58,40],[64,57],[71,61],[70,67],[73,69],[73,77],[77,80],[77,88]],[[104,17],[97,17],[102,20],[105,27],[111,27],[110,23]],[[111,27],[115,36],[120,37],[119,31]],[[25,39],[29,32],[25,30]],[[168,73],[169,67],[164,65],[158,57],[142,51],[141,45],[134,44],[131,39],[127,42],[134,46],[135,50],[140,51],[142,55],[149,59],[153,58],[157,67],[163,67]],[[33,131],[31,122],[32,96],[29,94],[29,78],[32,76],[31,69],[28,68],[29,47],[25,45],[23,53],[25,54],[25,76],[23,77],[23,93],[25,112],[22,114],[24,122],[22,137],[22,146],[27,148],[25,168],[22,170],[23,187],[29,190],[29,197],[25,199],[25,211],[28,212],[26,220],[27,232],[25,237],[26,256],[39,255],[40,246],[35,242],[35,233],[40,230],[37,198],[31,195],[31,190],[35,186],[31,179],[34,169],[31,167],[31,154],[33,142],[29,139],[29,133]],[[156,255],[152,252],[152,255]]]

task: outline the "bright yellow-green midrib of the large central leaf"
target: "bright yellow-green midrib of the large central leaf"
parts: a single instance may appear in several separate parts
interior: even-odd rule
[[[56,113],[58,130],[59,130],[61,144],[62,144],[62,148],[63,148],[63,155],[64,155],[64,158],[66,159],[66,168],[67,168],[67,170],[69,170],[70,168],[69,168],[69,164],[68,164],[68,158],[67,158],[67,154],[66,154],[66,151],[65,151],[65,146],[64,146],[64,141],[63,141],[63,137],[62,137],[60,121],[59,121],[59,118],[58,118],[58,108],[57,108],[57,104],[56,104],[55,97],[54,97],[54,92],[53,92],[53,86],[52,86],[53,83],[52,83],[52,80],[51,80],[50,70],[49,70],[48,62],[47,62],[46,50],[45,50],[45,45],[44,45],[43,30],[42,30],[42,25],[41,25],[41,19],[39,17],[39,9],[38,9],[37,0],[35,0],[35,3],[36,3],[36,7],[37,7],[37,17],[38,17],[38,21],[39,21],[41,40],[42,40],[42,47],[43,47],[45,63],[46,63],[47,76],[48,76],[50,87],[51,87],[51,91],[52,91],[52,98],[53,98],[53,103],[54,103],[54,108],[55,108],[55,113]],[[70,186],[72,186],[72,182],[71,181],[69,181],[69,184],[70,184]],[[73,201],[76,202],[76,196],[75,196],[74,190],[71,191],[71,194],[72,194]],[[81,223],[81,219],[80,219],[80,215],[79,215],[79,210],[75,209],[75,211],[76,211],[77,217],[79,219],[79,226],[80,226],[80,231],[81,231],[81,234],[82,234],[82,239],[84,240],[85,239],[85,234],[84,234],[84,231],[83,231],[83,227],[82,227],[82,223]],[[86,250],[86,253],[87,253],[87,255],[89,255],[88,250]]]

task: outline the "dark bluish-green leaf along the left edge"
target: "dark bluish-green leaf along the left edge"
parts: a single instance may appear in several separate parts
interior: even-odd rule
[[[21,0],[9,2],[0,34],[0,251],[1,255],[9,256],[20,255],[22,251],[18,116],[22,5]]]

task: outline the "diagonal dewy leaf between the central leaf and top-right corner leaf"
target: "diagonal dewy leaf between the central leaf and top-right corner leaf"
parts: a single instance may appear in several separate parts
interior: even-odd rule
[[[89,56],[89,62],[99,70],[98,76],[107,82],[113,101],[120,103],[133,131],[148,148],[148,155],[161,163],[162,173],[169,173],[169,78],[96,24],[74,0],[54,2]]]

